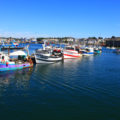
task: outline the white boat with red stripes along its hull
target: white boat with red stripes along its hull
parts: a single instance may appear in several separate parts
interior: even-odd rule
[[[64,49],[63,53],[64,53],[64,59],[78,58],[82,56],[82,54],[79,51],[79,48],[75,46],[67,46]]]

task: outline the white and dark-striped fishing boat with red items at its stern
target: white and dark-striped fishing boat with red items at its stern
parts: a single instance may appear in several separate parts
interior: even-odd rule
[[[42,49],[35,51],[35,62],[36,63],[54,63],[63,60],[63,53],[61,49],[53,49],[45,47],[43,44]]]

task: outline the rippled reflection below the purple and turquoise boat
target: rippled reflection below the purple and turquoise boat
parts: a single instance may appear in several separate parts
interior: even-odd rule
[[[6,71],[0,73],[0,94],[1,91],[13,87],[15,89],[26,89],[29,86],[29,80],[33,68],[26,68],[17,71]]]

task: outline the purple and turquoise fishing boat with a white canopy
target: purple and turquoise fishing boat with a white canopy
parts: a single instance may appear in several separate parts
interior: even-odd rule
[[[14,59],[11,56],[15,56]],[[16,57],[17,56],[17,57]],[[16,51],[10,55],[0,54],[0,71],[17,70],[33,67],[33,62],[23,51]]]

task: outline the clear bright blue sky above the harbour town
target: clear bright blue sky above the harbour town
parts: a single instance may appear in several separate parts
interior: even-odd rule
[[[120,36],[120,0],[0,0],[0,36]]]

